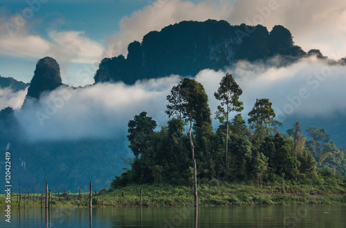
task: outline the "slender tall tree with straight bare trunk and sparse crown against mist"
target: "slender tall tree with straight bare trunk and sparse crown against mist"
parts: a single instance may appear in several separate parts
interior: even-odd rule
[[[230,112],[241,112],[244,109],[243,102],[239,101],[239,96],[242,95],[242,88],[239,87],[235,78],[227,73],[222,77],[220,86],[217,92],[214,93],[215,98],[221,101],[221,105],[217,106],[215,118],[223,123],[226,119],[226,169],[228,169],[228,122]]]

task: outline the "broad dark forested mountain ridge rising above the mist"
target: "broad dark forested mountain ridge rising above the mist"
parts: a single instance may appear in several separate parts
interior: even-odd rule
[[[236,61],[255,61],[275,55],[296,59],[307,55],[295,46],[291,32],[274,26],[231,26],[227,21],[181,21],[152,31],[140,43],[129,44],[128,54],[102,59],[95,83],[134,84],[138,79],[167,75],[194,76],[200,70],[219,70]]]

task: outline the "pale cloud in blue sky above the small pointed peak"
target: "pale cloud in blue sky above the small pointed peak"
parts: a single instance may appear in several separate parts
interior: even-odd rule
[[[93,64],[100,61],[103,47],[85,37],[84,32],[48,32],[50,39],[28,32],[20,17],[0,18],[0,54],[12,57],[51,56],[59,62]],[[19,26],[17,26],[19,25]]]

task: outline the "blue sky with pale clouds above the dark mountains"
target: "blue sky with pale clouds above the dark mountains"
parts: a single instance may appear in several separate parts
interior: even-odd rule
[[[28,0],[0,1],[0,75],[30,82],[38,59],[51,56],[62,80],[93,83],[103,57],[127,54],[150,30],[182,20],[282,24],[295,44],[346,56],[346,3],[340,0]]]

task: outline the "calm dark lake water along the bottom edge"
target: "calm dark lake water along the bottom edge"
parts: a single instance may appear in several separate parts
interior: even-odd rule
[[[346,227],[346,206],[1,210],[0,227]],[[91,216],[90,216],[91,215]]]

